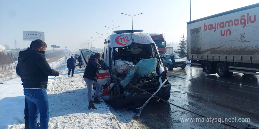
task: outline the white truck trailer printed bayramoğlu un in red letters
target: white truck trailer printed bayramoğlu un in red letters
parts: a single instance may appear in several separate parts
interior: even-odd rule
[[[259,75],[259,3],[187,22],[191,67],[220,77]]]

